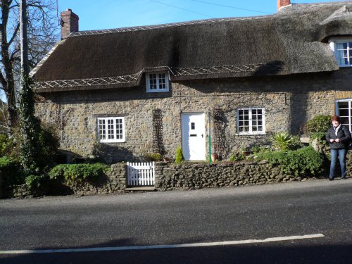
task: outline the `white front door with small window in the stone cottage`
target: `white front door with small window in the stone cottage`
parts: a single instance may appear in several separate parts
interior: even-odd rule
[[[206,160],[204,113],[182,113],[182,152],[186,161]]]

